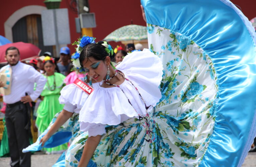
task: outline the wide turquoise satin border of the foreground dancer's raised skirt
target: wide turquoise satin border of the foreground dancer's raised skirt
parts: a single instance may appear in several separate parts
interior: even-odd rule
[[[248,19],[239,15],[228,0],[141,0],[141,3],[148,23],[191,38],[214,63],[220,100],[214,132],[199,166],[242,165],[256,133],[255,126],[252,127],[256,109],[256,55],[252,37],[255,32],[251,31]]]

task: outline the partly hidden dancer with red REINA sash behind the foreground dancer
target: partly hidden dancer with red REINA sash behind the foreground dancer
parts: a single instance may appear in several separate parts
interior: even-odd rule
[[[83,37],[86,38],[86,37]],[[82,39],[83,39],[82,38]],[[93,39],[93,38],[91,38]],[[80,39],[81,40],[81,39]],[[94,40],[94,39],[93,39]],[[80,41],[79,41],[80,42]],[[57,113],[52,122],[50,123],[47,130],[40,135],[36,143],[30,145],[28,148],[23,149],[24,152],[27,151],[38,151],[41,147],[51,148],[54,146],[61,145],[62,143],[69,142],[71,143],[76,136],[79,136],[82,132],[79,128],[79,112],[85,103],[87,97],[90,93],[80,87],[80,84],[90,87],[86,82],[91,82],[91,78],[87,78],[87,74],[84,74],[84,69],[80,66],[76,66],[76,61],[79,61],[79,53],[76,53],[71,57],[74,62],[74,72],[82,74],[83,77],[73,79],[73,82],[65,86],[61,90],[61,96],[59,98],[60,104],[64,104],[64,108],[60,113]],[[80,64],[80,63],[79,63]],[[79,82],[80,81],[80,82]],[[79,84],[78,84],[79,83]],[[100,83],[91,83],[93,89],[97,89],[100,86]],[[65,123],[67,122],[67,123]],[[67,135],[67,132],[71,132],[71,135]],[[59,137],[56,137],[58,134]],[[50,140],[49,140],[50,139]],[[52,142],[49,142],[51,141]],[[54,166],[65,166],[65,153],[58,159],[57,163]]]

